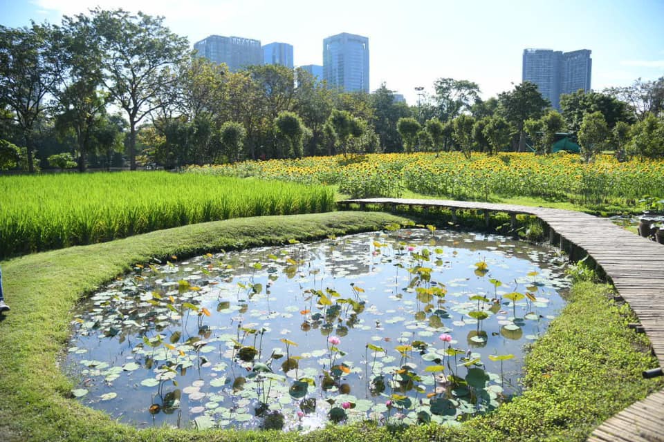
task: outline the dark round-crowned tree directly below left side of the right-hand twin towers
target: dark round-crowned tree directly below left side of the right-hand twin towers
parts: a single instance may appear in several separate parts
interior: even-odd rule
[[[519,133],[519,152],[526,146],[526,133],[524,122],[528,118],[542,117],[544,109],[551,104],[537,90],[537,85],[531,81],[524,81],[514,86],[514,90],[498,94],[498,113],[513,124]]]

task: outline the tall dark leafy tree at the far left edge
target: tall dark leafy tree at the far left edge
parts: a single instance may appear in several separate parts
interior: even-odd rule
[[[18,126],[26,148],[28,171],[35,171],[35,129],[45,109],[45,97],[55,75],[48,63],[51,28],[33,23],[31,28],[0,25],[0,108],[6,106]]]

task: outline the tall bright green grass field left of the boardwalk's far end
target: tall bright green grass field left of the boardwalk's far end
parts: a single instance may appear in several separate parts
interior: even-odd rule
[[[333,191],[167,172],[0,177],[0,260],[196,222],[329,211]]]

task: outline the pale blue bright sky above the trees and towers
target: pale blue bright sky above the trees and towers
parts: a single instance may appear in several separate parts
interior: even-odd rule
[[[592,50],[591,87],[664,76],[664,0],[0,0],[0,24],[59,24],[90,8],[164,17],[190,44],[208,35],[282,41],[295,66],[322,64],[322,40],[369,37],[370,88],[416,103],[417,86],[451,77],[488,98],[522,81],[525,48]]]

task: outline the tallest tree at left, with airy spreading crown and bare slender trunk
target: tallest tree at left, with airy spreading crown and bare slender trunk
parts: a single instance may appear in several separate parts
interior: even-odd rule
[[[131,170],[136,170],[136,127],[163,106],[160,93],[176,81],[171,70],[181,62],[189,44],[163,26],[163,17],[100,8],[92,16],[104,51],[104,85],[127,113],[129,162]]]

